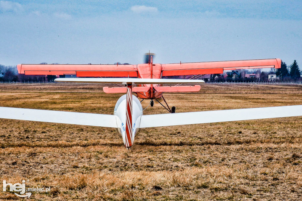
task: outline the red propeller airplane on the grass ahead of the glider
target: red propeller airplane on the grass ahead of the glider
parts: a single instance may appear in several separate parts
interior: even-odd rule
[[[148,57],[149,55],[149,57]],[[153,63],[153,53],[146,53],[146,63],[137,65],[121,64],[19,64],[18,73],[25,75],[66,75],[73,74],[77,77],[132,77],[144,79],[161,79],[162,76],[186,76],[194,75],[190,79],[197,79],[205,74],[223,73],[223,70],[252,69],[252,68],[281,68],[281,59],[261,60],[237,60],[237,61],[214,61],[196,63]],[[69,79],[69,82],[71,79]],[[77,80],[79,81],[79,80]],[[105,93],[126,93],[127,87],[114,84],[117,87],[104,87]],[[138,84],[132,88],[132,92],[140,99],[153,99],[158,101],[162,98],[169,112],[174,113],[175,107],[170,109],[162,94],[164,92],[194,92],[199,91],[201,86],[162,86],[162,84]]]

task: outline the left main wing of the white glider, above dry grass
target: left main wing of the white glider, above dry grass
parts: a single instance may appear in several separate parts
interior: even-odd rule
[[[0,118],[118,128],[115,115],[82,112],[0,107]]]

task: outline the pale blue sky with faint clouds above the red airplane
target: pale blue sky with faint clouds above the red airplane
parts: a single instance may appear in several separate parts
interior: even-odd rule
[[[280,58],[302,68],[302,1],[4,1],[0,64]]]

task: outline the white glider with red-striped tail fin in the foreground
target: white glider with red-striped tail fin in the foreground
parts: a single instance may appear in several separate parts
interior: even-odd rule
[[[55,81],[69,80],[127,84],[127,94],[118,99],[113,115],[0,107],[0,118],[111,127],[117,130],[128,149],[133,145],[134,137],[140,128],[302,116],[302,105],[143,115],[140,100],[132,95],[132,84],[203,83],[203,81],[137,78],[63,78]]]

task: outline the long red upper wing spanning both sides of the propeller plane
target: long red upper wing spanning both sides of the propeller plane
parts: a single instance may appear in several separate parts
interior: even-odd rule
[[[213,61],[197,63],[153,64],[160,67],[162,76],[197,75],[223,73],[223,70],[251,68],[281,68],[280,59]],[[25,75],[65,75],[78,77],[138,77],[142,74],[140,67],[151,70],[150,64],[110,65],[110,64],[19,64],[18,73]],[[160,78],[155,76],[154,78]]]

